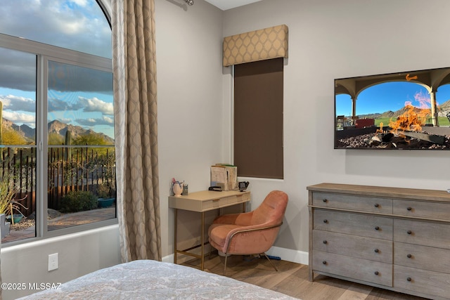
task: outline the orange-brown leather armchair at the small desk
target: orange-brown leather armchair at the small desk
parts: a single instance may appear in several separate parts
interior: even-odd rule
[[[225,254],[224,275],[228,254],[263,254],[278,271],[265,252],[275,242],[287,205],[288,195],[274,190],[254,211],[214,219],[208,229],[209,241]]]

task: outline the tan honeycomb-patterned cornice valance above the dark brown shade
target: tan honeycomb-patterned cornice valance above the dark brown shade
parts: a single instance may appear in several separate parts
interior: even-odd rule
[[[278,25],[224,38],[224,67],[288,57],[288,26]]]

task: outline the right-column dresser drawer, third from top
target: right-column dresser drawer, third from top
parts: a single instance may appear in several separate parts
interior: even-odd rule
[[[450,273],[450,250],[417,244],[394,243],[394,264]]]

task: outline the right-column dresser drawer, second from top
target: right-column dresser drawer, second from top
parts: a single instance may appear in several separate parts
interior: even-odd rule
[[[394,242],[450,249],[450,224],[395,219]]]

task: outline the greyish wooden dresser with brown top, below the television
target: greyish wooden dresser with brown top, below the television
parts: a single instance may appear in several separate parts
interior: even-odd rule
[[[314,274],[450,299],[450,193],[321,183],[309,190]]]

